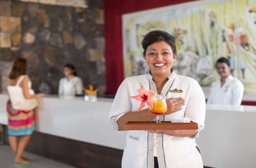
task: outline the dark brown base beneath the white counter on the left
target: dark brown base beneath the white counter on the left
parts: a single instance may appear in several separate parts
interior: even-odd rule
[[[7,126],[5,144],[8,144]],[[75,167],[120,168],[123,150],[75,141],[34,131],[27,152]]]

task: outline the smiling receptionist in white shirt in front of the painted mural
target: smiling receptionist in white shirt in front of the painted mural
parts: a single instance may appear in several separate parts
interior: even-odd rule
[[[229,60],[221,57],[215,67],[220,79],[212,82],[207,104],[241,105],[244,86],[239,79],[231,75]]]

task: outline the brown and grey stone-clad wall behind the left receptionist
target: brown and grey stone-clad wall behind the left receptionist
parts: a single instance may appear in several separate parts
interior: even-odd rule
[[[0,1],[0,65],[23,57],[36,92],[57,94],[63,65],[75,65],[83,86],[105,93],[103,0],[86,1],[88,8]],[[1,66],[0,92],[8,71]],[[1,86],[0,85],[0,86]]]

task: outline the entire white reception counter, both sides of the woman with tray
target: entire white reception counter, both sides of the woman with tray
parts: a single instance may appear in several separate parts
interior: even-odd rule
[[[7,99],[7,95],[0,94],[0,124],[5,125]],[[111,98],[98,98],[97,102],[84,101],[83,98],[41,98],[36,110],[36,132],[116,149],[120,151],[117,159],[121,159],[126,133],[112,129],[108,117],[112,101]],[[196,140],[204,165],[256,167],[255,119],[256,106],[207,104],[205,129]],[[120,166],[120,162],[117,164]]]

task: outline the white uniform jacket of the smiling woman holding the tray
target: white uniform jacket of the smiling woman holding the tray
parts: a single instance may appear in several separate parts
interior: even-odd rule
[[[123,114],[129,111],[140,113],[137,112],[140,101],[131,98],[131,96],[139,94],[137,90],[141,85],[145,87],[145,90],[153,90],[157,93],[155,83],[150,74],[127,77],[118,88],[109,115],[116,131],[118,130],[116,121]],[[199,83],[193,78],[177,75],[173,71],[169,76],[169,80],[165,83],[161,94],[166,95],[170,89],[183,90],[181,97],[186,100],[186,104],[182,110],[164,116],[164,120],[170,121],[173,117],[186,117],[198,123],[200,132],[204,128],[205,96]],[[144,108],[148,107],[145,106]],[[157,142],[154,142],[154,133],[152,132],[140,130],[127,131],[122,167],[154,167],[154,144],[157,144],[159,167],[203,167],[202,158],[196,149],[197,145],[195,143],[195,138],[198,137],[198,134],[191,137],[157,134]]]

